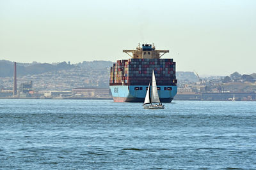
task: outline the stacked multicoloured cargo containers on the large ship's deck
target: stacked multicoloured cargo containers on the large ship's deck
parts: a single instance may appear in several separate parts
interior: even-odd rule
[[[109,85],[147,85],[152,69],[157,85],[177,85],[173,59],[117,60],[110,68]]]

